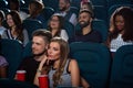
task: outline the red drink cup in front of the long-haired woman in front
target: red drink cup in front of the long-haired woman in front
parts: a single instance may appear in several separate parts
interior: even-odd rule
[[[40,88],[49,88],[48,75],[40,75],[38,78]]]

